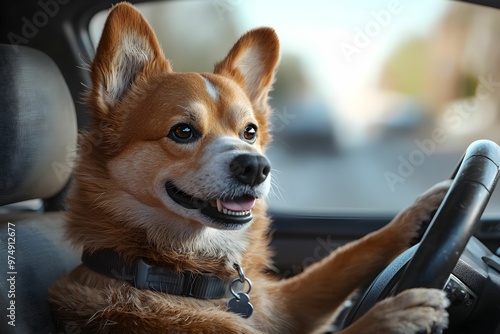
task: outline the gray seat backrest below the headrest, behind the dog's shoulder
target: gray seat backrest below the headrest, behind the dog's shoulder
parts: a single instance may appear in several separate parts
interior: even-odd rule
[[[63,218],[61,213],[0,215],[0,245],[8,244],[8,223],[14,224],[17,273],[14,275],[15,298],[9,298],[7,278],[12,275],[7,274],[10,272],[7,246],[2,246],[0,307],[3,319],[0,333],[58,333],[47,302],[47,291],[55,279],[80,262],[80,252],[73,250],[64,240]],[[5,321],[11,300],[15,301],[15,328]]]

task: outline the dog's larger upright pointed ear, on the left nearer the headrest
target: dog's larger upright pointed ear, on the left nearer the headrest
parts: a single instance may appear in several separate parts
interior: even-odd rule
[[[170,64],[144,17],[131,5],[114,6],[104,25],[91,66],[91,103],[108,113],[148,65],[170,71]]]

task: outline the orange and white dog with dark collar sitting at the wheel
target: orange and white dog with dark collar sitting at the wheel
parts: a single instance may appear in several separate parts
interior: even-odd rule
[[[269,274],[264,198],[268,93],[279,62],[271,28],[244,34],[213,73],[177,73],[127,3],[112,8],[87,95],[67,196],[82,264],[49,301],[79,333],[311,333],[407,249],[449,187],[440,183],[382,229],[286,280]],[[444,293],[410,289],[341,331],[430,333]]]

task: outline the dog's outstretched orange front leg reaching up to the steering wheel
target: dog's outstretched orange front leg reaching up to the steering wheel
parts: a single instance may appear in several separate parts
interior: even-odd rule
[[[441,203],[451,181],[439,183],[399,213],[391,223],[364,238],[344,245],[300,275],[278,283],[297,333],[324,325],[354,289],[370,282],[392,259],[407,249]]]

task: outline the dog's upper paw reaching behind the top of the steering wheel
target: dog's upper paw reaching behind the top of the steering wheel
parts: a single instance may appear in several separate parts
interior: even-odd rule
[[[394,218],[391,228],[395,229],[394,235],[406,243],[406,247],[420,240],[451,183],[452,180],[445,180],[435,184]]]

